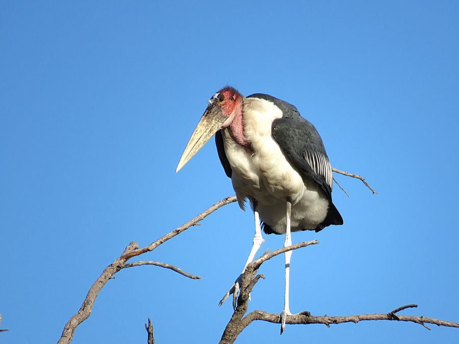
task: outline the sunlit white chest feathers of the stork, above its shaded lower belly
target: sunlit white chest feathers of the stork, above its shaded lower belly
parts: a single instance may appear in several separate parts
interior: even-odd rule
[[[291,197],[296,203],[304,188],[303,180],[271,136],[272,121],[282,117],[281,110],[270,101],[246,98],[243,114],[244,135],[251,143],[251,152],[234,142],[227,129],[223,132],[238,198],[252,197],[272,204]]]

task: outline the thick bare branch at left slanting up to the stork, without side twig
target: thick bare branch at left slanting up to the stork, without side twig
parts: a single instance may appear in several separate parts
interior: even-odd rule
[[[125,268],[124,264],[127,260],[131,259],[132,257],[136,257],[140,254],[143,254],[145,252],[153,251],[158,246],[160,246],[167,240],[171,239],[175,235],[180,234],[184,230],[190,228],[191,226],[196,225],[199,221],[206,218],[209,214],[213,213],[213,211],[217,210],[225,204],[232,203],[235,201],[236,196],[226,197],[221,201],[218,201],[209,209],[203,211],[201,214],[196,216],[191,221],[188,221],[179,228],[174,229],[166,235],[163,235],[162,237],[160,237],[160,239],[146,247],[139,249],[139,245],[136,242],[132,242],[131,244],[129,244],[124,250],[124,252],[121,254],[121,256],[116,258],[113,263],[111,263],[107,268],[105,268],[102,274],[96,279],[94,284],[91,286],[88,294],[86,295],[85,300],[83,301],[80,310],[77,312],[77,314],[73,315],[67,322],[67,324],[64,326],[64,330],[62,331],[62,335],[59,338],[58,344],[70,343],[72,341],[75,329],[77,329],[77,327],[86,319],[88,319],[89,315],[91,315],[94,301],[97,298],[97,295],[99,294],[100,290],[104,287],[105,284],[107,284],[108,280],[113,278],[114,274],[116,274],[121,269]]]

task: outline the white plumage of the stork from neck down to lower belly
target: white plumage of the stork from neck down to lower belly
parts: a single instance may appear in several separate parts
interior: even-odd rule
[[[255,109],[262,109],[258,111]],[[258,120],[260,116],[264,120]],[[272,117],[266,121],[266,116]],[[238,145],[223,130],[225,154],[230,162],[233,188],[239,206],[246,198],[258,202],[260,219],[276,233],[286,231],[286,200],[292,202],[291,230],[315,229],[327,215],[328,200],[312,180],[303,179],[272,139],[271,123],[282,112],[271,102],[246,98],[244,102],[244,135],[253,153]],[[265,123],[260,125],[260,123]]]

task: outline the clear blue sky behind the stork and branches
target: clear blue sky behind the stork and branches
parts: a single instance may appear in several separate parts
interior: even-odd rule
[[[291,310],[459,321],[455,1],[20,2],[0,4],[0,333],[52,343],[131,241],[145,246],[232,195],[211,141],[175,167],[207,100],[229,84],[285,99],[313,122],[345,224],[294,233]],[[231,204],[121,271],[74,343],[216,342],[217,303],[240,273],[253,220]],[[262,250],[283,236],[265,235]],[[280,312],[282,256],[249,310]],[[180,323],[177,319],[180,317]],[[459,330],[371,322],[254,323],[240,343],[450,343]],[[31,339],[32,338],[32,339]],[[191,339],[190,339],[191,338]]]

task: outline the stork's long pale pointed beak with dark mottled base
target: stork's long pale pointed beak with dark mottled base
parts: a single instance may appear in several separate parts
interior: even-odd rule
[[[179,172],[198,150],[217,133],[226,119],[227,117],[221,114],[220,108],[211,107],[206,110],[196,125],[175,172]]]

